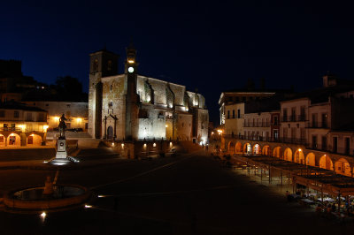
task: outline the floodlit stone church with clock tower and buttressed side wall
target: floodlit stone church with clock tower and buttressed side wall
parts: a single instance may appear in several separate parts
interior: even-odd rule
[[[207,141],[209,114],[204,96],[139,75],[133,43],[127,47],[122,74],[118,55],[102,49],[89,56],[88,131],[93,138]]]

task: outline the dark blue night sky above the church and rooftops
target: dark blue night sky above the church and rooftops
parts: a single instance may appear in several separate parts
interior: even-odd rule
[[[133,37],[139,73],[198,88],[215,123],[220,92],[249,78],[297,91],[321,86],[327,71],[354,78],[352,4],[73,2],[2,1],[0,58],[22,60],[25,75],[46,83],[77,77],[88,91],[89,53],[106,45],[122,72]]]

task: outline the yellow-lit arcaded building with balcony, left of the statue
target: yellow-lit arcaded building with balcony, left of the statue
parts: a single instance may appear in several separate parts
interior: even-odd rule
[[[48,129],[47,111],[15,102],[0,103],[0,147],[40,146]]]

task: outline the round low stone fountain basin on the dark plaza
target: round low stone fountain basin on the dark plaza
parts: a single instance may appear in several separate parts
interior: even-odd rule
[[[83,186],[53,186],[54,193],[43,194],[43,186],[26,187],[4,194],[4,205],[12,209],[70,208],[89,200],[91,192]]]

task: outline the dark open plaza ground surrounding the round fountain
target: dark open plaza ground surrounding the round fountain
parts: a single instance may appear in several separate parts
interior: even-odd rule
[[[288,203],[273,186],[221,167],[204,149],[150,161],[111,154],[109,148],[84,149],[77,156],[80,166],[58,173],[58,184],[86,186],[96,193],[86,208],[44,217],[2,211],[4,233],[329,234],[353,228]],[[101,164],[95,165],[98,159]],[[0,169],[2,192],[41,185],[57,173],[50,168]]]

